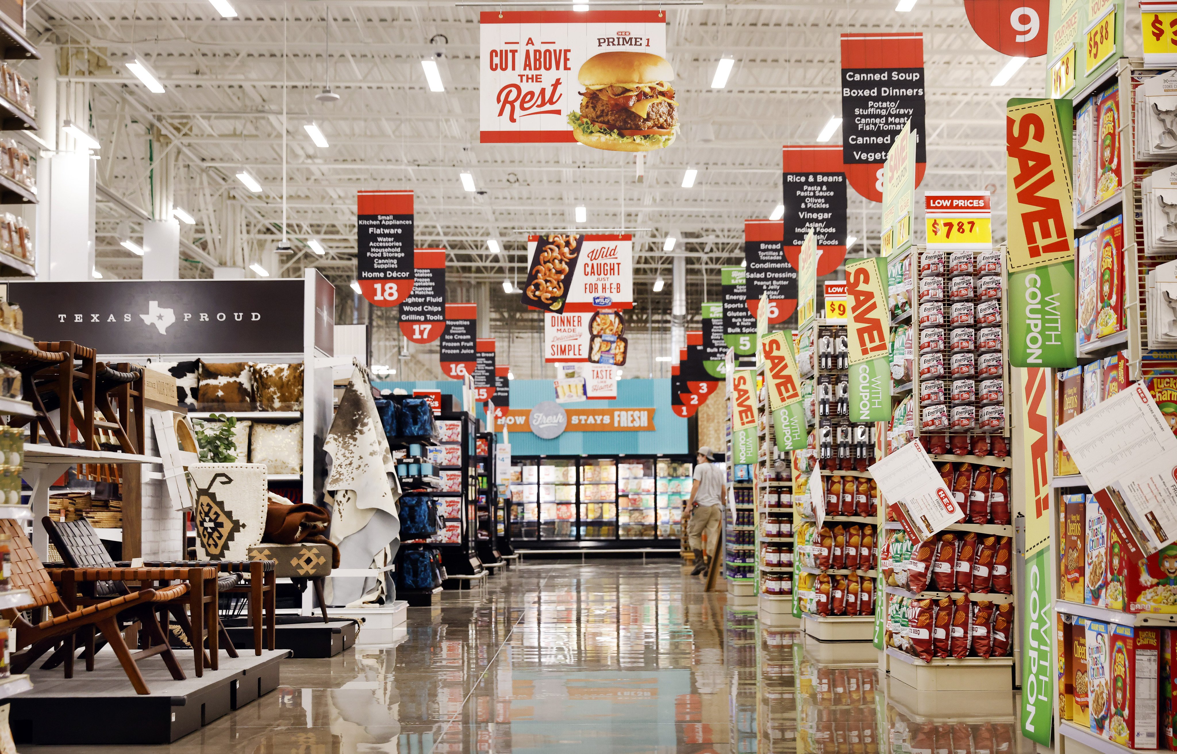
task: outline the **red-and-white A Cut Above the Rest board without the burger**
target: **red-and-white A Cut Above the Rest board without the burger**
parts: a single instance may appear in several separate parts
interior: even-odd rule
[[[573,142],[567,114],[580,106],[586,60],[618,51],[666,55],[661,11],[486,11],[480,21],[483,144]]]

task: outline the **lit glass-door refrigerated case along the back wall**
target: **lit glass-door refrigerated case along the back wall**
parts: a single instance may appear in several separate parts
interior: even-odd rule
[[[523,547],[677,547],[692,471],[685,455],[513,458],[511,539]]]

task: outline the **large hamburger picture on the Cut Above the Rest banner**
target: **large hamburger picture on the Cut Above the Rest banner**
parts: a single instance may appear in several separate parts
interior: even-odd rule
[[[669,147],[678,132],[674,69],[650,53],[607,52],[580,66],[580,109],[568,113],[580,144],[611,152]]]

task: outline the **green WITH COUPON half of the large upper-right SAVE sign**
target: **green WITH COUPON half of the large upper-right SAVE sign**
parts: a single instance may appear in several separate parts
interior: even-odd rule
[[[1075,262],[1010,275],[1010,365],[1066,369],[1076,361]],[[852,388],[851,388],[852,389]]]

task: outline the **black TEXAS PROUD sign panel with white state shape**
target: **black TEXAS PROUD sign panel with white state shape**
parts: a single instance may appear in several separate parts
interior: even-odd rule
[[[13,282],[35,340],[102,354],[302,353],[302,280]]]

